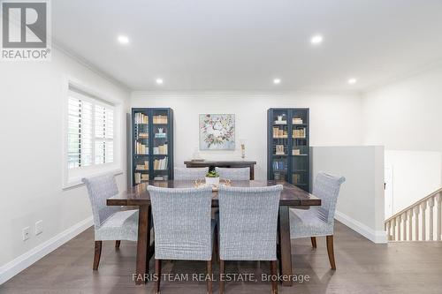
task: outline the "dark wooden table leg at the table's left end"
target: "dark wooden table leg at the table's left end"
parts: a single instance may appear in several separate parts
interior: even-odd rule
[[[136,258],[136,279],[135,284],[144,283],[146,271],[146,261],[148,256],[148,226],[149,226],[149,207],[141,205],[138,215],[138,241],[137,241],[137,258]],[[149,263],[148,263],[149,267]]]

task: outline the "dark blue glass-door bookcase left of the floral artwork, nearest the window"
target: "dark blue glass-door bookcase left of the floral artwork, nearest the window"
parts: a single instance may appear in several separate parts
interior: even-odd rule
[[[173,111],[132,109],[132,185],[173,179]]]

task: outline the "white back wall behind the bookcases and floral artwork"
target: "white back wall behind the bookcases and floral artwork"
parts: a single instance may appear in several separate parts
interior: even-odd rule
[[[235,114],[236,139],[245,139],[246,159],[257,162],[256,179],[267,178],[267,109],[308,107],[310,145],[339,146],[362,143],[362,103],[350,94],[149,93],[133,92],[132,107],[171,107],[174,113],[174,161],[184,166],[198,148],[199,114]],[[201,152],[205,159],[240,159],[235,151]]]

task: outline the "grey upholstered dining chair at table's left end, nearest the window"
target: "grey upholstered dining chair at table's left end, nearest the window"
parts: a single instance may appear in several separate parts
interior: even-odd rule
[[[92,268],[98,269],[103,241],[115,241],[118,250],[121,240],[138,239],[138,210],[121,210],[106,206],[106,200],[118,194],[113,174],[86,177],[81,180],[88,188],[92,214],[94,215],[95,255]]]

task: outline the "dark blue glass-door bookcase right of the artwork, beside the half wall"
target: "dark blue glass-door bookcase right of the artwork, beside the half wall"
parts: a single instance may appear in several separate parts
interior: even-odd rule
[[[267,178],[309,192],[309,109],[268,109],[267,125]]]

